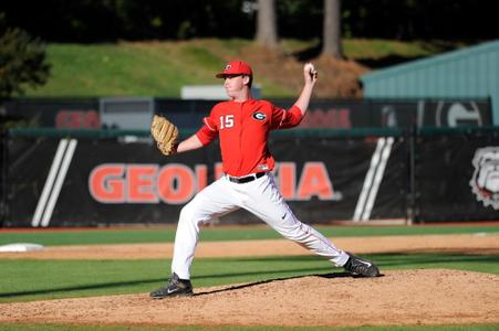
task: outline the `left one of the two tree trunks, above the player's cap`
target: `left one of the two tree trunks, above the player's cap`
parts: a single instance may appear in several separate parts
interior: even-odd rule
[[[274,0],[258,0],[256,41],[267,47],[278,47],[278,28]]]

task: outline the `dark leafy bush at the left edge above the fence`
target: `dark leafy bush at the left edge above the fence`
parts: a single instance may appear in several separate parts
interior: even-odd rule
[[[45,46],[39,39],[17,28],[0,35],[0,102],[45,84],[49,75]]]

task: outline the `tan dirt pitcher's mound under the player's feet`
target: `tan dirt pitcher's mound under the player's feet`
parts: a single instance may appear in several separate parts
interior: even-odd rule
[[[195,284],[194,284],[195,285]],[[499,276],[433,269],[344,274],[147,293],[0,305],[0,322],[126,325],[353,327],[499,322]]]

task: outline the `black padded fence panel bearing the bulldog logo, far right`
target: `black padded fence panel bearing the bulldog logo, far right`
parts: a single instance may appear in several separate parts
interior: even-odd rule
[[[499,128],[427,128],[414,139],[416,220],[499,220]]]

